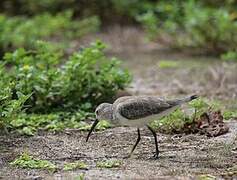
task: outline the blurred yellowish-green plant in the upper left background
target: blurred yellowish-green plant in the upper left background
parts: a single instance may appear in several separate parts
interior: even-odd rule
[[[57,15],[45,13],[32,18],[0,15],[0,50],[4,52],[19,47],[32,49],[37,40],[54,37],[65,44],[69,39],[95,32],[99,24],[96,16],[74,21],[71,11]]]

